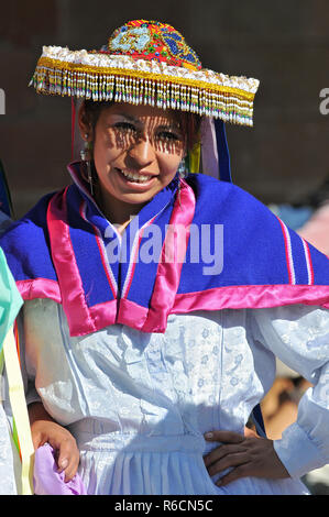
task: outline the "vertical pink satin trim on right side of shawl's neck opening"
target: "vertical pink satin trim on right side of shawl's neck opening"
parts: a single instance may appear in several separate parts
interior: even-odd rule
[[[185,242],[179,242],[179,255],[185,256],[189,239],[189,226],[193,221],[195,213],[195,195],[186,182],[180,183],[180,198],[177,194],[175,205],[173,208],[169,227],[183,226],[187,229]],[[184,207],[184,208],[183,208]],[[147,314],[147,319],[141,330],[143,332],[164,332],[167,324],[167,316],[174,305],[175,296],[178,289],[183,260],[168,261],[167,250],[171,249],[168,241],[173,239],[172,232],[167,231],[163,249],[162,258],[157,266],[154,289],[151,298],[151,307]],[[183,253],[184,252],[184,253]]]

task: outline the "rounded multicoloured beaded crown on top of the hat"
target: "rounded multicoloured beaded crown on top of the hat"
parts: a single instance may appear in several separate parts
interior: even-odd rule
[[[102,52],[195,70],[202,68],[184,36],[172,25],[156,21],[134,20],[125,23],[113,32]]]

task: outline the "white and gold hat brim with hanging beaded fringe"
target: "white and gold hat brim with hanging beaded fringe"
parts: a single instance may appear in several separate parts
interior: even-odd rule
[[[144,25],[125,25],[124,35]],[[149,105],[253,125],[256,79],[230,77],[189,63],[179,65],[132,56],[131,50],[118,54],[44,46],[30,85],[40,94]]]

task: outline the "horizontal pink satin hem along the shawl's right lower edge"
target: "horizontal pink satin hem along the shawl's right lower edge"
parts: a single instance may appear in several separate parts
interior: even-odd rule
[[[303,302],[329,309],[328,286],[260,285],[217,287],[198,293],[177,294],[171,314],[194,310],[266,308]]]

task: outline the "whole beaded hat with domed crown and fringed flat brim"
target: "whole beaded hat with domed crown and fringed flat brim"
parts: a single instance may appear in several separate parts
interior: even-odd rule
[[[31,85],[37,92],[150,105],[252,125],[259,80],[202,68],[173,26],[135,20],[100,51],[44,46]]]

